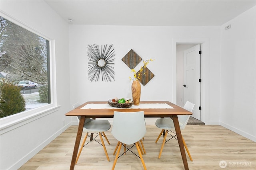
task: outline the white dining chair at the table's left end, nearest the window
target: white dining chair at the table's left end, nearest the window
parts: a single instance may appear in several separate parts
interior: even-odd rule
[[[76,108],[78,106],[80,106],[80,104],[76,103],[73,105],[73,108]],[[80,116],[78,116],[78,121],[80,121]],[[108,157],[108,152],[106,150],[106,146],[105,146],[103,138],[102,138],[102,135],[103,135],[105,137],[107,143],[110,145],[108,138],[104,133],[104,131],[108,131],[110,129],[110,126],[111,125],[108,120],[95,120],[95,119],[88,119],[88,118],[85,119],[83,132],[86,132],[86,135],[85,135],[82,145],[78,151],[78,155],[76,157],[76,163],[78,162],[78,159],[80,157],[83,147],[85,147],[84,143],[86,142],[87,137],[90,136],[90,135],[88,135],[89,133],[91,133],[91,134],[96,133],[96,134],[98,134],[97,136],[100,136],[101,143],[95,140],[95,138],[97,136],[94,137],[93,140],[103,146],[106,157],[107,157],[108,161],[110,161],[109,157]],[[90,141],[88,143],[90,143]],[[86,145],[88,143],[86,143]]]

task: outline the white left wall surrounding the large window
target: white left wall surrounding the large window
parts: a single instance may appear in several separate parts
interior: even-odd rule
[[[1,16],[40,33],[52,40],[51,43],[55,41],[55,51],[52,51],[56,61],[56,67],[52,67],[56,68],[56,72],[52,70],[52,82],[57,89],[57,98],[53,101],[55,106],[50,111],[41,110],[40,115],[26,117],[26,121],[19,120],[10,127],[1,125],[0,169],[13,170],[70,126],[71,118],[64,115],[70,110],[68,23],[44,1],[1,0],[0,3]]]

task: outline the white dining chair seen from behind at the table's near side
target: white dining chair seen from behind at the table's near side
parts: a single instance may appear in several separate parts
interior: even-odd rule
[[[142,152],[139,147],[139,141],[146,134],[146,125],[144,121],[144,111],[138,112],[119,112],[114,111],[113,127],[111,131],[113,137],[118,140],[119,146],[112,166],[114,170],[117,159],[120,157],[120,149],[125,145],[136,145],[140,160],[142,162],[144,170],[146,165],[142,157]],[[133,145],[133,146],[134,146]],[[128,149],[130,150],[130,149]],[[128,151],[127,150],[127,151]]]

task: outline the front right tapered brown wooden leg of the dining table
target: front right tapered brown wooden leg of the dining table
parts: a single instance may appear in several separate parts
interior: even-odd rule
[[[186,158],[184,145],[183,145],[183,142],[182,142],[182,134],[180,132],[180,125],[179,125],[177,115],[173,115],[173,123],[174,123],[175,131],[176,131],[176,135],[177,135],[177,138],[178,138],[178,143],[179,143],[179,146],[180,146],[180,153],[181,153],[183,165],[184,165],[185,170],[188,170],[188,162],[187,162],[187,158]]]

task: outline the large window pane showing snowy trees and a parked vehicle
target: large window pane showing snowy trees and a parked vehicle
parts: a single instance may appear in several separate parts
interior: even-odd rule
[[[0,118],[51,103],[49,51],[48,40],[0,16],[0,90],[9,84],[23,98],[4,95],[8,88],[0,91]],[[24,108],[7,109],[19,104]]]

